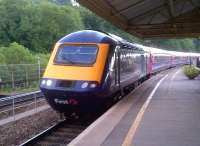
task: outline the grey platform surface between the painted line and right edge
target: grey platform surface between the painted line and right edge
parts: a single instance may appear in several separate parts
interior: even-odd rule
[[[154,95],[132,145],[200,145],[200,80],[182,72],[171,78]]]

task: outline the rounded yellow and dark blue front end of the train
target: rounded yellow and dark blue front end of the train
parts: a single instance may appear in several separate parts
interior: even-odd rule
[[[58,112],[87,110],[103,96],[102,80],[109,52],[102,34],[72,33],[54,47],[40,89]]]

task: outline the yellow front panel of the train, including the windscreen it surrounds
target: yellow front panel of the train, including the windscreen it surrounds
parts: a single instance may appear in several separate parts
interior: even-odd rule
[[[98,84],[101,82],[107,53],[108,44],[58,43],[43,78],[93,81]]]

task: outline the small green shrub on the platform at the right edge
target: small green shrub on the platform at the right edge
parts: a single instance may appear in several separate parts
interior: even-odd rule
[[[194,79],[200,74],[200,70],[195,68],[194,66],[185,66],[184,67],[184,74],[189,78],[189,79]]]

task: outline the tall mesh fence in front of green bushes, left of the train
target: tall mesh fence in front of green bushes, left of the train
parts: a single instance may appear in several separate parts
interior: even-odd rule
[[[30,87],[38,84],[44,72],[44,66],[37,64],[0,65],[0,89]]]

